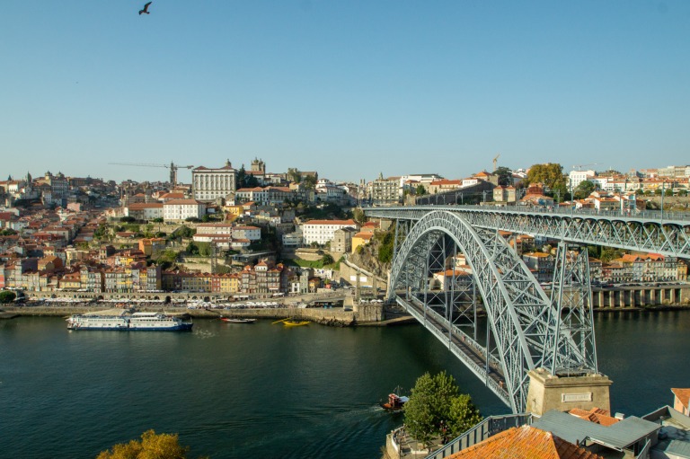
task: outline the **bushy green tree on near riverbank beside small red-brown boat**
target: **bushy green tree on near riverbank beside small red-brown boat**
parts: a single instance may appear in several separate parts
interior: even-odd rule
[[[421,375],[405,403],[405,425],[412,437],[429,446],[434,438],[447,440],[482,421],[467,394],[459,393],[453,376],[441,372]]]

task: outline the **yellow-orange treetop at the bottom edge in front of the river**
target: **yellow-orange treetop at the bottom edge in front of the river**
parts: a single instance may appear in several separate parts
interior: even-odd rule
[[[120,443],[102,451],[96,459],[185,459],[189,446],[181,446],[177,434],[157,434],[153,429],[141,434],[141,441]]]

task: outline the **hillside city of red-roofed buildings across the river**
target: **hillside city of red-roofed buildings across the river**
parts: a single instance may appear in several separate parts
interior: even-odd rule
[[[105,181],[45,172],[0,181],[0,288],[31,292],[213,293],[270,297],[351,285],[349,260],[385,278],[391,228],[361,207],[414,204],[517,206],[573,211],[687,210],[690,165],[626,173],[592,164],[498,167],[455,179],[437,173],[334,182],[316,171],[267,172],[228,160],[191,169],[191,183]],[[132,164],[134,165],[134,164]],[[664,202],[666,199],[666,202]],[[503,234],[544,287],[557,242]],[[376,246],[372,250],[372,246]],[[591,247],[592,283],[601,287],[678,283],[682,260]],[[463,260],[434,273],[471,277]],[[380,286],[385,287],[385,286]]]

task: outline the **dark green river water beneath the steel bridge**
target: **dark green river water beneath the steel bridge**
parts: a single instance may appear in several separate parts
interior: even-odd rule
[[[690,312],[602,313],[612,408],[645,414],[690,386]],[[447,370],[483,415],[508,412],[428,331],[198,320],[189,333],[0,321],[0,458],[93,458],[146,429],[190,457],[378,458],[402,423],[377,402]]]

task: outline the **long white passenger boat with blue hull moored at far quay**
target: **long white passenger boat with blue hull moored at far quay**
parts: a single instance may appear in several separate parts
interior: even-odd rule
[[[67,318],[67,330],[189,331],[186,321],[165,313],[130,313],[128,310],[75,314]]]

